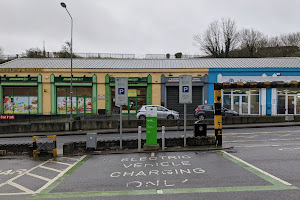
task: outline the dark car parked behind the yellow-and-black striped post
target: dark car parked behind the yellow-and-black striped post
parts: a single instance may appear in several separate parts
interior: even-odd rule
[[[204,119],[213,119],[215,114],[215,106],[214,105],[199,105],[194,111],[194,117],[199,120]],[[222,116],[232,115],[238,116],[239,113],[234,110],[229,110],[227,108],[222,108],[221,110]]]

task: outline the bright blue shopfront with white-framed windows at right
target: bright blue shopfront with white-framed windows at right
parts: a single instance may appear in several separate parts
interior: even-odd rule
[[[211,68],[208,103],[214,103],[215,82],[299,81],[298,68]],[[300,88],[222,90],[222,106],[240,115],[299,115]]]

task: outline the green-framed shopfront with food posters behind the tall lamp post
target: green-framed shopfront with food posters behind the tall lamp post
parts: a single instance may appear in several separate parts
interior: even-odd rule
[[[51,114],[97,114],[97,77],[73,77],[72,101],[70,77],[51,75]]]

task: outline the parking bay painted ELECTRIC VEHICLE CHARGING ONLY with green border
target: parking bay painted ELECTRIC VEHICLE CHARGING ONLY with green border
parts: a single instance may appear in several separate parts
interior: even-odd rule
[[[31,198],[298,189],[225,151],[94,155]]]

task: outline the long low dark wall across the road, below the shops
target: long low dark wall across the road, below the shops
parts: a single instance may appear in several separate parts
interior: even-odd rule
[[[193,126],[196,119],[187,120],[187,126]],[[300,116],[295,116],[295,121],[300,121]],[[226,116],[223,124],[251,124],[251,123],[278,123],[285,122],[285,116]],[[206,120],[208,125],[213,125],[213,120]],[[66,122],[32,122],[0,124],[0,134],[7,133],[32,133],[32,132],[60,132],[65,131]],[[183,126],[183,120],[158,120],[157,126],[174,127]],[[145,120],[124,120],[123,128],[145,127]],[[73,130],[100,130],[118,129],[118,120],[79,120],[73,122]]]

